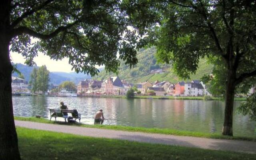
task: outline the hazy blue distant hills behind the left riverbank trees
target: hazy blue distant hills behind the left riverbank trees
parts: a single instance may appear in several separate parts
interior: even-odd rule
[[[33,68],[38,68],[38,66],[27,66],[24,64],[16,64],[17,69],[24,75],[26,80],[30,80],[30,73],[32,72]],[[13,73],[13,76],[18,76],[17,73]],[[75,84],[78,84],[79,81],[84,80],[86,78],[91,78],[90,75],[84,73],[76,73],[76,72],[50,72],[50,84],[53,83],[55,85],[59,85],[63,81],[72,81]]]

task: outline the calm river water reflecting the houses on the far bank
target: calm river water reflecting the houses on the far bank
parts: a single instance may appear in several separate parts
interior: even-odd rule
[[[126,98],[79,98],[13,96],[15,116],[50,117],[49,108],[61,101],[82,114],[82,123],[93,124],[95,113],[102,108],[104,124],[171,128],[206,133],[221,133],[224,101],[220,100],[154,100]],[[241,101],[234,102],[233,132],[236,136],[256,136],[256,122],[236,113]],[[58,118],[57,118],[58,119]],[[62,120],[59,118],[58,120]],[[54,118],[52,119],[54,120]]]

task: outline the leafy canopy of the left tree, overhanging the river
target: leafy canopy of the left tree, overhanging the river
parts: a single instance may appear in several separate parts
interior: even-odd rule
[[[39,51],[54,60],[67,57],[76,72],[92,75],[95,65],[116,72],[117,53],[130,65],[137,62],[138,36],[120,0],[13,0],[11,13],[11,51],[28,65]]]

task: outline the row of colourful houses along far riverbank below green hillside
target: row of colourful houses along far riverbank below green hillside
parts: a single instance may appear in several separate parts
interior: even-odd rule
[[[118,76],[107,78],[105,81],[84,80],[77,85],[77,94],[107,94],[107,95],[125,95],[130,88],[135,86],[142,94],[156,96],[204,96],[211,94],[207,91],[203,82],[193,80],[191,82],[178,82],[176,84],[168,81],[163,82],[142,82],[139,84],[130,84],[121,80]]]

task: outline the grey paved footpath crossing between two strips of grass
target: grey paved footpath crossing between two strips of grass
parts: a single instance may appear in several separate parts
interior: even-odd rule
[[[58,124],[45,124],[37,122],[15,120],[15,125],[37,130],[47,130],[90,136],[98,138],[112,138],[136,142],[146,142],[155,144],[167,144],[175,146],[196,147],[211,150],[229,150],[234,152],[246,152],[256,154],[256,142],[240,140],[220,140],[210,138],[197,138],[189,136],[173,136],[166,134],[150,134],[142,132],[128,132],[119,130],[106,130],[98,128],[85,128],[77,126],[67,126]]]

